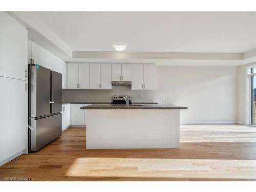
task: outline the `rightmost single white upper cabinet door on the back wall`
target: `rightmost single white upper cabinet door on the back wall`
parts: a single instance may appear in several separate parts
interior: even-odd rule
[[[144,90],[155,89],[155,65],[144,64]]]

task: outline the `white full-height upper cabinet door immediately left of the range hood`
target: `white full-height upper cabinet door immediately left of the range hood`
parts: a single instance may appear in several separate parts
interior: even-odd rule
[[[100,84],[101,89],[112,89],[111,64],[100,64]]]

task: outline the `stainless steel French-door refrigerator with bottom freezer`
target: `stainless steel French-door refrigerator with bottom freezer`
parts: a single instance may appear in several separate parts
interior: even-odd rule
[[[62,75],[29,65],[28,148],[36,152],[61,136]]]

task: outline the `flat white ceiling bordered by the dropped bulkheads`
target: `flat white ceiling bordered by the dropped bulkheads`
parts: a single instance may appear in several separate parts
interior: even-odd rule
[[[16,11],[15,11],[16,12]],[[244,53],[256,48],[249,11],[25,11],[72,51]]]

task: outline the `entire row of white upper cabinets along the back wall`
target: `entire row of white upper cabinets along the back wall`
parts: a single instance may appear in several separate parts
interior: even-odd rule
[[[69,63],[68,89],[111,90],[111,81],[132,81],[132,90],[155,90],[155,64]]]

